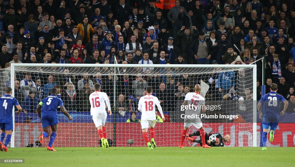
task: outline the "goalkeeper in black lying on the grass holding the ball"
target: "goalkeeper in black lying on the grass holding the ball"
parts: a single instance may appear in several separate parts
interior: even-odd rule
[[[209,140],[209,137],[211,135],[215,135],[216,136],[216,140],[214,142]],[[194,133],[191,134],[186,134],[186,137],[189,141],[191,142],[195,142],[195,143],[200,143],[200,145],[202,146],[202,140],[194,140],[193,138],[191,138],[192,136],[200,136],[200,131],[196,131]],[[212,134],[207,134],[207,132],[205,132],[205,142],[207,143],[207,145],[209,146],[215,146],[215,147],[223,147],[225,142],[230,141],[230,135],[225,135],[223,138],[220,135],[220,133],[212,133]]]

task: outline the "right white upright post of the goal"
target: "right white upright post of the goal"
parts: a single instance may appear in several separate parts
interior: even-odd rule
[[[257,67],[253,68],[253,147],[257,147],[257,108],[256,108],[256,80],[257,80]]]

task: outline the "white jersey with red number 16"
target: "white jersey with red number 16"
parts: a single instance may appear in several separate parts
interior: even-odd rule
[[[106,104],[110,106],[108,95],[101,91],[94,91],[89,96],[89,101],[91,105],[90,114],[93,116],[97,113],[105,113],[106,112]],[[111,109],[111,108],[109,108]]]

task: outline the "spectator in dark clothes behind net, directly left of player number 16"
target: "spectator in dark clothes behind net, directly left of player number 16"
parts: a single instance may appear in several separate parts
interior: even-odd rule
[[[89,96],[91,93],[93,93],[93,89],[91,89],[90,84],[88,82],[84,83],[83,89],[81,90],[81,93],[79,94],[80,97],[80,108],[84,112],[89,112],[91,105],[89,101]]]

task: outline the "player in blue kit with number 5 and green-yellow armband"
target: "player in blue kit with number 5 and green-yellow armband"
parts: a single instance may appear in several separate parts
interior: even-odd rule
[[[37,106],[37,112],[42,122],[42,128],[44,132],[41,132],[39,135],[39,142],[43,143],[43,137],[48,137],[49,134],[49,126],[51,127],[52,133],[50,135],[50,140],[47,146],[47,150],[56,151],[52,144],[56,137],[56,132],[58,128],[58,119],[57,119],[57,111],[56,109],[60,107],[61,111],[65,116],[68,117],[69,120],[72,117],[69,115],[68,111],[63,106],[63,101],[57,97],[57,89],[51,89],[50,96],[42,99],[42,101]],[[42,108],[42,109],[41,109]]]

